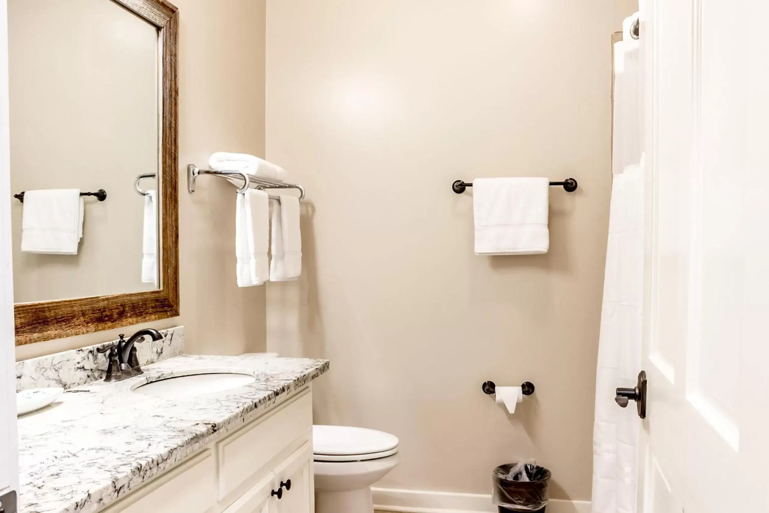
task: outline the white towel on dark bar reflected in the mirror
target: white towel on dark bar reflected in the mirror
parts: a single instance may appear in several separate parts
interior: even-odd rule
[[[83,236],[80,189],[26,191],[22,252],[77,255]]]

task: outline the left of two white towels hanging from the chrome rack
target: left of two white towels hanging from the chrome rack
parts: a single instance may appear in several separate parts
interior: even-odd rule
[[[235,255],[238,287],[261,285],[270,278],[268,260],[270,204],[266,192],[249,189],[237,195]]]

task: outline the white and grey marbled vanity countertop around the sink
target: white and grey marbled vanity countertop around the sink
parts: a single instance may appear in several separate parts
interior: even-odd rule
[[[95,381],[18,419],[19,513],[89,513],[308,385],[328,361],[185,355],[118,383]],[[236,372],[256,381],[169,401],[131,390],[181,375]]]

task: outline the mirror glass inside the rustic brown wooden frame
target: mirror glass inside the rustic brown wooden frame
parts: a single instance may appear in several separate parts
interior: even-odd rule
[[[8,46],[15,302],[158,288],[158,30],[8,0]]]

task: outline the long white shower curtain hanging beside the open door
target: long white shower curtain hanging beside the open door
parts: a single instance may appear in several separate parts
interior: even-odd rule
[[[638,437],[635,403],[620,408],[615,388],[634,387],[641,370],[644,274],[643,65],[623,24],[614,45],[613,183],[595,389],[593,513],[635,513]]]

